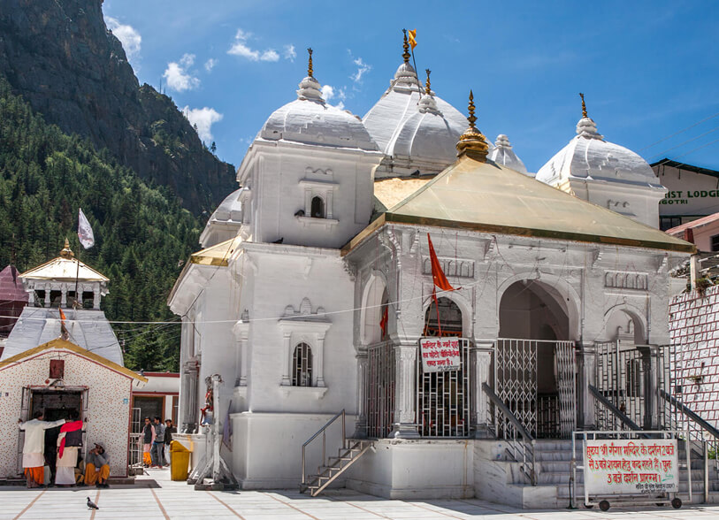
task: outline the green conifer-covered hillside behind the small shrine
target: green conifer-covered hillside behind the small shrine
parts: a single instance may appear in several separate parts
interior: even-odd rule
[[[95,231],[92,249],[78,242],[78,207]],[[46,124],[0,78],[0,268],[42,264],[67,237],[82,262],[111,279],[103,300],[109,319],[175,320],[167,294],[201,228],[168,187],[140,180],[106,149]],[[115,330],[129,368],[178,369],[179,325]]]

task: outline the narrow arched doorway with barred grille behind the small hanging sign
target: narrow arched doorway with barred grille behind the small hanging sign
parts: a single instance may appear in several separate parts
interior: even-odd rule
[[[459,338],[461,363],[458,370],[425,372],[417,356],[417,424],[423,437],[470,435],[470,341],[462,331],[462,310],[451,299],[438,298],[427,307],[423,335]]]

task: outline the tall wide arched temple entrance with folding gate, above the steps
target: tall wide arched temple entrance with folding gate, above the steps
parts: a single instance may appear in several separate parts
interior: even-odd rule
[[[577,367],[566,302],[539,280],[518,281],[500,304],[495,393],[535,438],[569,437],[577,424]]]

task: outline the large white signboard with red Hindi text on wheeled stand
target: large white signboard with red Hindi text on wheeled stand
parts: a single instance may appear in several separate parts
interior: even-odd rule
[[[595,496],[677,493],[677,440],[587,440],[585,486]]]

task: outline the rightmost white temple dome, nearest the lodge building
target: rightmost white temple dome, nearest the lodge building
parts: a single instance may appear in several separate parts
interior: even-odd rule
[[[638,154],[605,141],[593,119],[577,123],[577,135],[537,172],[536,179],[560,184],[570,178],[659,186],[651,166]]]

